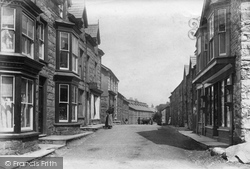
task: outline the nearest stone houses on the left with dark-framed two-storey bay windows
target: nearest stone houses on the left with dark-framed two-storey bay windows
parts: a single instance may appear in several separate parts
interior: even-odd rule
[[[99,24],[92,29],[77,3],[0,1],[0,154],[34,151],[41,136],[98,123]]]

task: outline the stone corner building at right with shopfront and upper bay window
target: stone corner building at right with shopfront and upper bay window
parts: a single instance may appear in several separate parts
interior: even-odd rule
[[[228,144],[250,141],[249,23],[249,0],[204,0],[195,34],[196,75],[188,84],[193,86],[188,89],[192,128]],[[170,105],[178,97],[174,94]]]

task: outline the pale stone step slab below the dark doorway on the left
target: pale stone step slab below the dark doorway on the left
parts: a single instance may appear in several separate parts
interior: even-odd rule
[[[67,145],[67,143],[72,140],[86,137],[92,133],[93,133],[92,131],[85,131],[83,133],[74,134],[74,135],[51,135],[51,136],[39,138],[39,143],[40,144]]]

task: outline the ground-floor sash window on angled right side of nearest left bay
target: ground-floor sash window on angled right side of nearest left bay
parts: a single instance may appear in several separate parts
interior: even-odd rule
[[[21,83],[21,128],[33,129],[33,81],[22,78]]]

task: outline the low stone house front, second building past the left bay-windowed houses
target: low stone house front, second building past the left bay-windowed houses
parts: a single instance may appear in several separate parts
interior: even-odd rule
[[[120,121],[121,124],[126,124],[126,119],[129,119],[129,102],[121,93],[118,92],[117,121]]]

